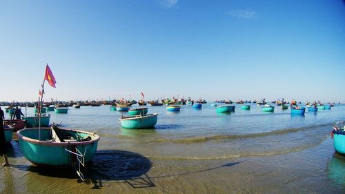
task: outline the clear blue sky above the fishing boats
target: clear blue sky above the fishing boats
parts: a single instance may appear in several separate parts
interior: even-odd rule
[[[0,0],[0,101],[345,101],[341,0]]]

